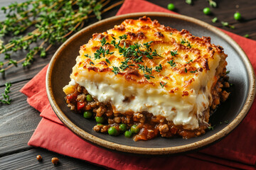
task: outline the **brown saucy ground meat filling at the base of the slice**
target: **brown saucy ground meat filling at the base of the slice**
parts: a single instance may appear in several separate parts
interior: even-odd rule
[[[228,77],[224,72],[225,69],[223,70],[223,76],[218,79],[211,90],[213,102],[210,108],[204,113],[206,122],[208,122],[210,112],[213,112],[220,102],[228,98],[229,93],[223,89],[228,88],[230,84],[228,84]],[[134,140],[137,141],[150,140],[158,135],[161,135],[161,137],[182,136],[188,139],[204,134],[208,128],[208,125],[205,123],[199,125],[199,128],[196,130],[186,130],[180,125],[174,125],[173,122],[167,121],[166,118],[161,115],[154,116],[148,112],[113,113],[110,103],[100,103],[96,98],[88,102],[86,100],[86,96],[88,95],[86,89],[78,84],[76,86],[75,92],[65,97],[66,103],[68,107],[70,107],[70,110],[76,113],[82,114],[84,111],[92,111],[92,118],[103,117],[105,124],[95,125],[93,130],[96,132],[107,133],[107,130],[114,126],[118,133],[120,133],[120,123],[126,124],[127,130],[131,128],[132,125],[137,125],[140,129],[139,133],[134,136]],[[127,100],[129,100],[129,98]]]

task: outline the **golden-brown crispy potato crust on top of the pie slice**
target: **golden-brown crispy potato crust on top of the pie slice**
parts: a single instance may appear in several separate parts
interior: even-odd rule
[[[122,35],[127,35],[127,39],[121,40],[119,36]],[[103,39],[106,40],[106,44],[102,46],[101,40]],[[140,47],[142,52],[146,50],[143,44],[150,42],[151,51],[156,50],[157,52],[153,59],[142,55],[143,62],[129,60],[131,66],[120,70],[116,77],[125,79],[132,84],[160,87],[161,84],[165,84],[164,89],[170,94],[179,93],[182,96],[191,94],[190,90],[193,88],[190,86],[199,73],[207,74],[216,60],[219,61],[220,58],[225,60],[227,57],[223,53],[223,48],[211,44],[208,37],[198,38],[191,35],[188,30],[178,31],[144,16],[138,20],[127,19],[105,33],[93,34],[92,39],[80,47],[79,67],[89,72],[114,74],[113,68],[119,68],[126,58],[111,43],[113,40],[116,43],[119,42],[120,47],[125,45],[125,48],[138,43],[143,46]],[[114,53],[95,59],[95,52],[100,50],[100,47]],[[151,69],[149,79],[144,76],[148,73],[139,69],[138,64]],[[156,67],[159,67],[159,64],[162,68],[160,72],[156,72]]]

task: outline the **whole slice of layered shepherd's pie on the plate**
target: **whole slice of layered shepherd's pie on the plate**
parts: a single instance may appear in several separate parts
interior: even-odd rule
[[[195,137],[208,128],[210,111],[228,98],[226,57],[208,37],[146,16],[127,19],[80,47],[65,100],[71,110],[91,113],[100,123],[97,132],[133,128],[136,141]]]

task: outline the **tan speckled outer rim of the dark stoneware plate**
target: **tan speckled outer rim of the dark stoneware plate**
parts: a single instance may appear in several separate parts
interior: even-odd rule
[[[199,26],[202,26],[203,28],[206,28],[210,30],[211,32],[220,35],[224,40],[226,40],[231,46],[235,47],[235,50],[238,52],[240,55],[240,59],[242,60],[243,64],[245,64],[245,68],[247,71],[247,74],[249,76],[249,87],[248,87],[248,94],[247,98],[245,101],[245,105],[242,106],[242,109],[240,113],[236,116],[236,118],[230,122],[229,125],[227,125],[225,128],[220,130],[219,132],[215,133],[214,135],[211,135],[210,137],[206,137],[203,140],[193,142],[187,145],[181,145],[181,146],[176,146],[176,147],[158,147],[158,148],[146,148],[146,147],[132,147],[129,145],[120,145],[114,142],[110,142],[107,140],[103,140],[100,137],[95,137],[94,135],[91,135],[90,133],[86,132],[85,130],[82,130],[79,128],[77,125],[75,125],[71,120],[68,119],[68,117],[63,113],[56,103],[54,97],[53,97],[53,91],[51,88],[51,75],[52,75],[52,70],[53,70],[53,65],[55,64],[55,61],[58,59],[58,54],[67,46],[70,42],[75,40],[80,36],[80,34],[83,34],[87,30],[90,30],[92,28],[95,28],[98,25],[107,23],[108,21],[116,21],[116,20],[124,20],[129,17],[141,17],[141,16],[149,16],[149,17],[154,17],[154,16],[162,16],[162,17],[171,17],[171,18],[176,18],[180,19],[183,21],[188,21],[191,23],[196,23]],[[129,153],[135,153],[135,154],[174,154],[178,152],[186,152],[188,150],[193,150],[193,149],[198,149],[199,147],[203,147],[206,145],[209,145],[212,142],[218,141],[224,136],[228,135],[232,130],[234,130],[238,124],[245,118],[245,115],[250,111],[250,108],[252,106],[252,103],[255,98],[255,72],[252,67],[252,64],[250,63],[250,60],[248,59],[247,55],[245,52],[242,50],[242,48],[238,45],[235,40],[230,38],[229,35],[223,33],[219,28],[216,29],[214,26],[211,26],[208,23],[205,23],[203,21],[200,21],[196,18],[192,18],[189,16],[183,16],[180,14],[173,14],[173,13],[160,13],[160,12],[142,12],[142,13],[127,13],[124,15],[120,16],[113,16],[110,18],[106,18],[102,21],[98,21],[97,23],[93,23],[90,26],[87,26],[86,28],[83,28],[80,30],[78,33],[75,33],[75,35],[71,36],[68,40],[66,40],[63,45],[61,45],[58,50],[55,52],[53,55],[52,59],[50,60],[50,64],[48,65],[48,69],[46,72],[46,92],[48,96],[48,100],[50,101],[50,106],[52,106],[53,111],[55,114],[58,116],[60,121],[67,127],[69,128],[75,135],[78,135],[79,137],[82,137],[82,139],[87,140],[89,142],[95,143],[96,145],[100,145],[102,147],[106,147],[108,149],[113,149],[113,150],[118,150],[121,152],[129,152]]]

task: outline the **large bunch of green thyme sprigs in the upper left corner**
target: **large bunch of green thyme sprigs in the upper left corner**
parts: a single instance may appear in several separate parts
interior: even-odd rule
[[[64,42],[80,30],[88,18],[100,20],[102,13],[122,2],[105,8],[110,0],[28,0],[2,7],[6,20],[0,22],[0,37],[11,35],[14,38],[5,45],[0,43],[0,54],[3,55],[0,72],[4,74],[7,69],[19,64],[26,67],[37,54],[46,57],[50,47]],[[31,28],[35,29],[27,33]],[[18,50],[25,50],[26,57],[12,60],[11,56]]]

